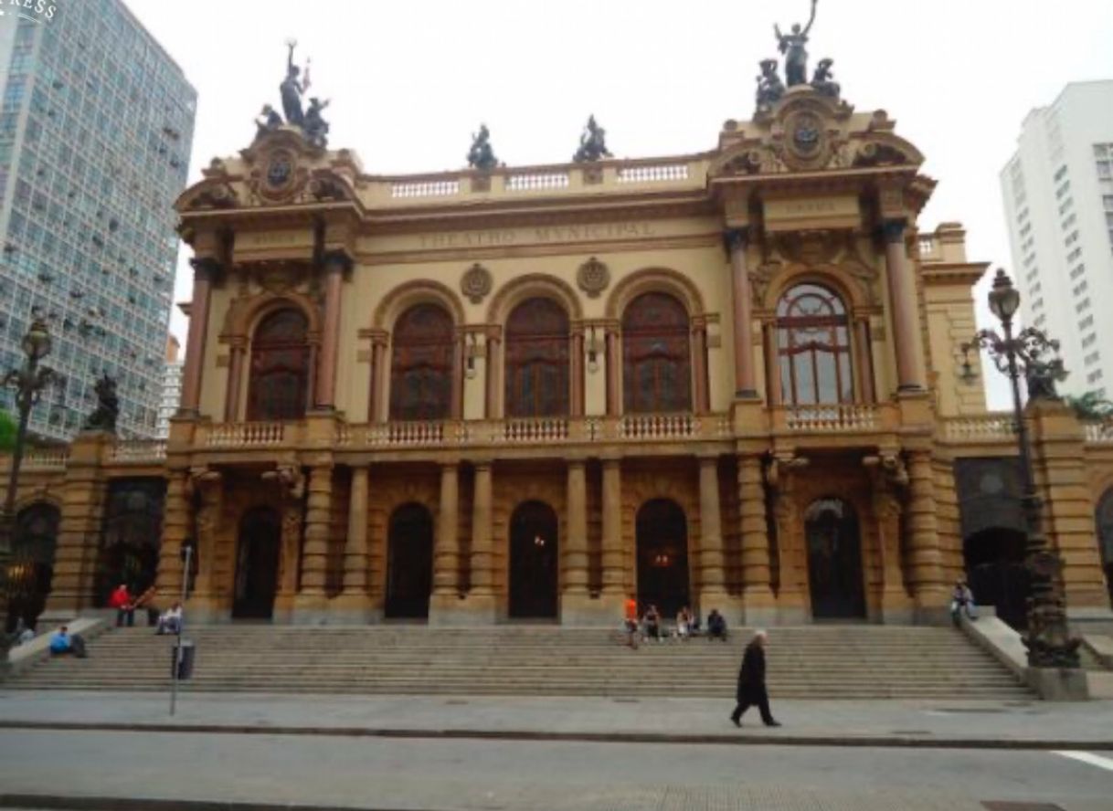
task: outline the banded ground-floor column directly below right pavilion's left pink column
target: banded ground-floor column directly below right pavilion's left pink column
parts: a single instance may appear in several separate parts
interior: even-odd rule
[[[742,537],[742,605],[745,622],[767,625],[777,619],[770,585],[769,526],[766,522],[761,457],[738,457],[738,512]]]

